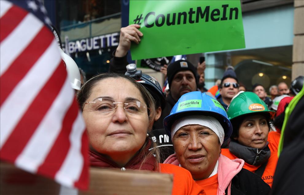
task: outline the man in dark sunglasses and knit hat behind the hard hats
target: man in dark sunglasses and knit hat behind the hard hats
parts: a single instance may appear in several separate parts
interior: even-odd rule
[[[220,83],[220,96],[217,100],[222,104],[226,110],[231,102],[233,96],[239,92],[239,82],[233,75],[226,75],[222,78]]]

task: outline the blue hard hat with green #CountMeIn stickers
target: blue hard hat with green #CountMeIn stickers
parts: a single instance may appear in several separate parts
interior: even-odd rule
[[[164,128],[167,134],[171,136],[171,127],[174,121],[190,115],[205,115],[216,118],[224,129],[224,141],[232,133],[231,122],[220,102],[205,93],[193,91],[182,95],[173,106],[169,116],[164,119]]]

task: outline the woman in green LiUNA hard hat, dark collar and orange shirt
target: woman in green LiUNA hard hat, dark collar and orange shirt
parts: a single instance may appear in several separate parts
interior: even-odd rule
[[[278,158],[269,149],[267,138],[269,120],[275,112],[255,93],[243,92],[232,99],[227,114],[233,132],[229,149],[222,149],[222,154],[229,159],[243,159],[244,168],[259,175],[271,187]]]

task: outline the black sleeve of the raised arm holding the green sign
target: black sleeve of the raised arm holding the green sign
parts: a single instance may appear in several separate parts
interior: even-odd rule
[[[129,64],[127,61],[127,55],[123,57],[115,57],[116,50],[112,53],[112,58],[110,60],[109,72],[114,72],[118,74],[125,74],[127,71],[126,66]]]

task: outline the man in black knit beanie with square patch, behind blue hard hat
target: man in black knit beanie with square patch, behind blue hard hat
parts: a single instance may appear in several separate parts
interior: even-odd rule
[[[160,119],[170,114],[177,100],[191,91],[197,91],[198,76],[196,67],[187,60],[177,60],[167,68],[167,77],[170,93],[166,98],[166,107]]]

